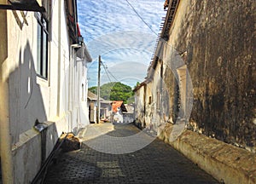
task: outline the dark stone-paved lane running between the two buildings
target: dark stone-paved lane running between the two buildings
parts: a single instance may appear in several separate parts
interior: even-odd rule
[[[91,133],[93,129],[100,129],[101,134]],[[104,142],[102,135],[122,137],[135,135],[138,131],[132,124],[95,124],[91,125],[83,136],[85,143],[90,140]],[[108,142],[105,141],[104,144],[108,145]],[[111,149],[114,149],[113,145]],[[172,147],[155,139],[147,147],[125,154],[97,152],[83,143],[79,151],[62,154],[58,163],[50,166],[45,183],[199,184],[218,181]]]

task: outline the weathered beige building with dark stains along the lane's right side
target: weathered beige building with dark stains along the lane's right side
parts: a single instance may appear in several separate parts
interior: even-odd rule
[[[218,181],[253,183],[256,3],[170,0],[166,4],[154,59],[146,80],[135,89],[136,124],[153,129]],[[207,147],[211,141],[215,145]],[[230,154],[219,161],[228,149]],[[233,152],[239,152],[237,159]]]

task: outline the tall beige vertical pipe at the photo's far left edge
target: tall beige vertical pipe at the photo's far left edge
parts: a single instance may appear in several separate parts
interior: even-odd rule
[[[0,3],[6,3],[6,1],[0,0]],[[14,166],[9,122],[9,70],[4,65],[8,58],[6,11],[0,11],[0,22],[2,22],[0,32],[3,34],[0,42],[0,157],[3,183],[13,184]]]

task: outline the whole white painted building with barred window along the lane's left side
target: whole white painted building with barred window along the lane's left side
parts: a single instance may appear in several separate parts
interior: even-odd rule
[[[76,0],[23,2],[10,7],[46,11],[0,9],[3,183],[30,183],[62,131],[78,132],[89,124],[91,58],[79,37]],[[46,127],[44,136],[35,129],[38,122]]]

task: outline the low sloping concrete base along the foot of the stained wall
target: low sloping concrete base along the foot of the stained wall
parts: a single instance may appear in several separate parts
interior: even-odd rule
[[[172,124],[160,129],[159,138],[224,183],[256,183],[256,155],[222,141],[184,130],[170,141]]]

